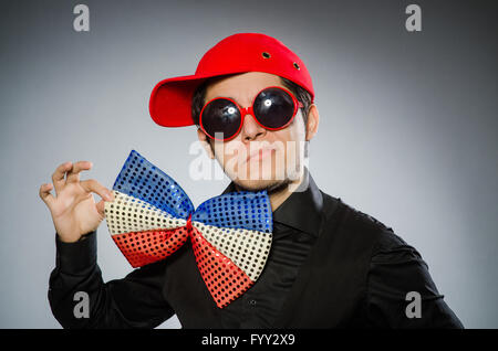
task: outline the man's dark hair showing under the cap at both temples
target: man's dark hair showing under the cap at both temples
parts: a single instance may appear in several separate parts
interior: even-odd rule
[[[197,89],[194,92],[194,96],[191,98],[191,118],[194,119],[194,124],[199,127],[199,116],[200,110],[204,107],[205,98],[206,98],[206,89],[207,86],[212,83],[216,79],[219,79],[220,77],[211,77],[203,82]],[[308,123],[308,111],[311,106],[311,94],[308,93],[307,89],[301,87],[300,85],[295,84],[292,81],[289,81],[287,78],[280,77],[282,81],[282,85],[287,87],[289,91],[291,91],[292,94],[294,94],[295,98],[302,103],[303,107],[301,107],[302,117],[304,120],[304,126]]]

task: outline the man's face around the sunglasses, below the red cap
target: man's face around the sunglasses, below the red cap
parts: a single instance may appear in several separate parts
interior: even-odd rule
[[[248,107],[268,86],[284,87],[279,76],[263,72],[222,77],[208,85],[205,103],[215,97],[231,97],[241,108]],[[298,181],[302,174],[307,128],[301,110],[281,130],[268,130],[248,114],[243,116],[240,132],[229,141],[210,140],[200,129],[198,135],[201,141],[210,142],[208,152],[242,189],[272,190]]]

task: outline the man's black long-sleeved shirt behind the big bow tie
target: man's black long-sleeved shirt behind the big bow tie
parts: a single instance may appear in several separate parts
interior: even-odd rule
[[[174,313],[183,328],[463,328],[414,247],[320,191],[311,176],[308,184],[273,212],[267,264],[226,308],[215,305],[189,241],[164,260],[104,283],[92,232],[76,243],[55,235],[53,315],[64,328],[154,328]],[[74,316],[77,291],[90,297],[89,318]],[[411,291],[421,297],[415,318],[406,312],[414,308]]]

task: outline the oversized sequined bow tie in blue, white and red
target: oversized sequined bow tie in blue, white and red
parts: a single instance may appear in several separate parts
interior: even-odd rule
[[[113,192],[105,219],[133,267],[164,259],[190,238],[200,276],[219,308],[261,274],[273,225],[266,191],[226,193],[194,210],[177,182],[132,150]]]

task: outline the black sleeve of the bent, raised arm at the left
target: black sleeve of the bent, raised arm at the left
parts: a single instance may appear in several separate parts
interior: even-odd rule
[[[155,328],[174,315],[162,294],[164,262],[104,283],[95,231],[75,243],[64,243],[55,233],[55,246],[48,297],[63,328]]]

